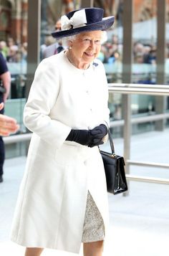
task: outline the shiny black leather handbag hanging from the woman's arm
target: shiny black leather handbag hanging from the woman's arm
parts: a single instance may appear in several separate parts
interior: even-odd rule
[[[127,191],[125,160],[122,156],[115,154],[115,147],[109,130],[108,136],[112,153],[100,150],[105,167],[107,191],[112,194],[120,194]]]

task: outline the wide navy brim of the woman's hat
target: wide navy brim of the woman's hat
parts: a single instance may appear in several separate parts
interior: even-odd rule
[[[74,34],[79,34],[82,32],[90,32],[96,30],[107,30],[112,27],[112,24],[115,22],[115,16],[110,16],[103,18],[101,22],[87,24],[84,27],[77,27],[76,29],[67,29],[61,30],[59,32],[52,32],[52,37],[62,38],[62,37],[71,37]]]

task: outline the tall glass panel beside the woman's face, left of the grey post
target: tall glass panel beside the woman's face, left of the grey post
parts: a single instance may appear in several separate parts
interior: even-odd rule
[[[115,16],[113,27],[107,31],[99,59],[105,65],[108,82],[122,82],[122,0],[94,1],[95,7],[105,9],[105,16]]]

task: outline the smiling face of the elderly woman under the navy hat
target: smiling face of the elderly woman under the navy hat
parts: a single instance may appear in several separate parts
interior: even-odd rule
[[[100,53],[102,31],[82,32],[69,42],[71,58],[78,68],[89,65]]]

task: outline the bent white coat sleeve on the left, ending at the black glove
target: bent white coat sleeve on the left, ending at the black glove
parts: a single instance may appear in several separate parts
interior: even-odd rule
[[[52,62],[43,60],[34,75],[29,98],[24,107],[24,125],[47,143],[59,148],[71,128],[50,118],[59,95],[59,72]]]

